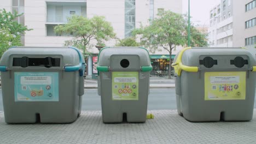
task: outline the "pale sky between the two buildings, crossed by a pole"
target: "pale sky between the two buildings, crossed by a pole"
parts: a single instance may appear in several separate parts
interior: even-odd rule
[[[210,9],[220,3],[220,0],[190,0],[190,21],[197,25],[209,25]],[[188,0],[183,0],[183,14],[188,13]]]

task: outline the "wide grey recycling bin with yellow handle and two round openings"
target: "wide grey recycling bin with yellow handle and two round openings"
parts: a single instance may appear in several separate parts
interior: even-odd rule
[[[256,62],[242,48],[188,47],[174,58],[179,115],[192,122],[250,121]]]

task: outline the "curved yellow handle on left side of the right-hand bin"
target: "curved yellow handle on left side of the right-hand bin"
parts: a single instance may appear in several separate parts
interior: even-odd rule
[[[183,65],[182,64],[182,55],[184,53],[184,51],[191,49],[191,47],[186,47],[185,49],[181,50],[181,52],[179,53],[176,62],[172,64],[172,67],[175,70],[175,73],[178,76],[181,76],[181,71],[188,71],[188,72],[197,72],[198,71],[198,67],[190,67],[187,65]]]

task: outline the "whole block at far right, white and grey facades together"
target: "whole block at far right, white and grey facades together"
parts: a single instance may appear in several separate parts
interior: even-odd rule
[[[214,9],[219,14],[214,17]],[[255,47],[256,2],[255,0],[222,0],[210,12],[209,43],[216,47]],[[217,19],[217,24],[213,20]],[[215,25],[214,25],[215,24]]]

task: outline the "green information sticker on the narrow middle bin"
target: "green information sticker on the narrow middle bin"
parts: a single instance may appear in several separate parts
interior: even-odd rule
[[[138,72],[112,72],[112,100],[138,100]]]

